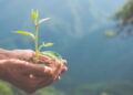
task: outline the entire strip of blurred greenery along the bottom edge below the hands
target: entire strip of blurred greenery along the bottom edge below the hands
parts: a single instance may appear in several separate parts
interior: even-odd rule
[[[70,87],[61,92],[53,86],[42,88],[32,95],[133,95],[132,82],[92,83]],[[0,82],[0,95],[28,95],[4,82]]]

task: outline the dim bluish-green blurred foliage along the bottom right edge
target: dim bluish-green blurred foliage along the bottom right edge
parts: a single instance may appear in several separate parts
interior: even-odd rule
[[[133,95],[132,82],[92,83],[70,88],[66,95]]]

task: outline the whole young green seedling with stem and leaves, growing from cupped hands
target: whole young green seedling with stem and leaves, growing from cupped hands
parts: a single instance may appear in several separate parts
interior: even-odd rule
[[[38,45],[38,28],[39,28],[39,25],[41,23],[50,20],[50,18],[41,19],[41,20],[38,21],[38,15],[39,15],[38,10],[37,11],[32,10],[31,14],[32,14],[33,22],[34,22],[35,34],[32,34],[31,32],[25,32],[25,31],[14,31],[14,33],[29,35],[29,36],[31,36],[33,39],[34,44],[35,44],[37,62],[39,60],[39,54],[43,54],[43,55],[52,57],[52,59],[57,60],[58,62],[62,63],[62,57],[57,52],[53,52],[53,51],[43,51],[43,52],[41,52],[42,48],[44,48],[44,46],[52,46],[53,43],[50,43],[50,42],[49,43],[44,43],[44,42],[42,42],[42,44],[40,46]]]

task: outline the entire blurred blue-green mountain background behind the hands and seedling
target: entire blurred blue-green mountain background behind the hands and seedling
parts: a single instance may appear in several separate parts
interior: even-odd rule
[[[61,81],[33,95],[133,95],[133,0],[0,0],[0,48],[32,49],[31,9],[39,19],[39,43],[68,60]],[[0,95],[27,95],[0,81]]]

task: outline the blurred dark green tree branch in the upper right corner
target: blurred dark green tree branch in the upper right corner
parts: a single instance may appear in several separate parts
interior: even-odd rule
[[[133,0],[127,0],[125,4],[115,12],[114,20],[117,21],[117,34],[124,32],[133,35]]]

